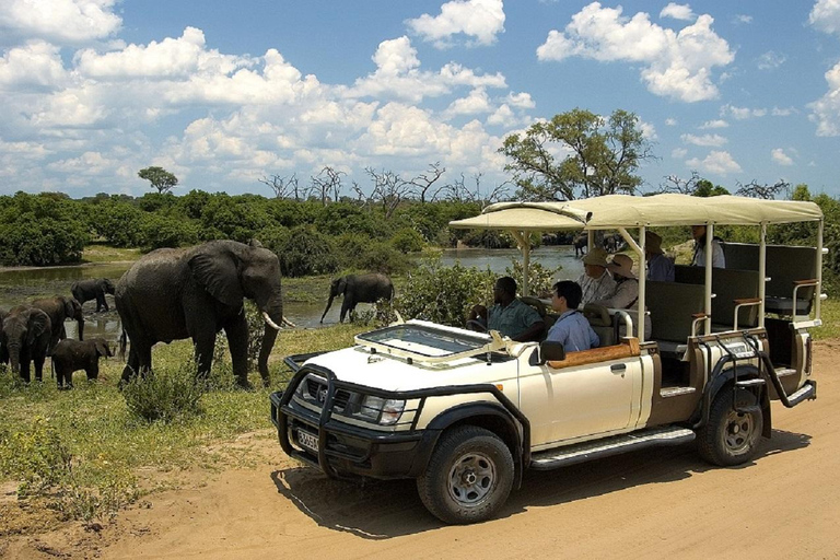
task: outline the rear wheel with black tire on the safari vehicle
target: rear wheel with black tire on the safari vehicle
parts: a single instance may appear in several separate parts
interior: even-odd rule
[[[721,389],[709,411],[709,422],[697,433],[700,456],[721,467],[752,459],[758,453],[763,429],[763,415],[755,408],[756,396],[745,389],[737,392],[737,406],[751,407],[748,412],[736,411],[733,398],[732,388]]]

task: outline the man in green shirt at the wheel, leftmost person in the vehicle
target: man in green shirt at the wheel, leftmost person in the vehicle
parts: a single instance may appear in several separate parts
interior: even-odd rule
[[[539,340],[546,323],[537,310],[516,299],[516,280],[505,276],[495,281],[493,306],[476,305],[469,313],[467,328],[498,330],[517,342]]]

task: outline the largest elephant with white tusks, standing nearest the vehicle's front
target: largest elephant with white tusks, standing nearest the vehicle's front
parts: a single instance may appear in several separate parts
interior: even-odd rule
[[[257,363],[268,384],[268,355],[283,322],[277,255],[256,241],[211,241],[143,256],[122,275],[115,294],[122,329],[131,340],[122,382],[151,370],[155,342],[183,338],[192,339],[198,375],[206,377],[215,334],[224,329],[236,382],[249,387],[243,298],[257,304],[267,324]]]

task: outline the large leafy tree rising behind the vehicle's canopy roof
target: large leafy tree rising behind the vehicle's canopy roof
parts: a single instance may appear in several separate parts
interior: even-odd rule
[[[608,119],[575,108],[511,135],[499,149],[511,161],[517,196],[527,200],[572,200],[633,192],[639,165],[652,159],[639,117],[616,109]],[[558,163],[556,154],[564,155]]]

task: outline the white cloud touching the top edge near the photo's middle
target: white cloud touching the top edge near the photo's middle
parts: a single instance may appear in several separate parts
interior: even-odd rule
[[[440,14],[427,13],[406,24],[438,48],[452,46],[459,34],[472,37],[471,44],[492,45],[504,32],[504,7],[502,0],[452,0],[441,5]]]

